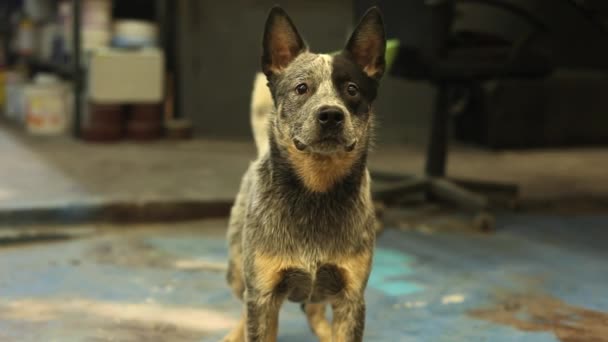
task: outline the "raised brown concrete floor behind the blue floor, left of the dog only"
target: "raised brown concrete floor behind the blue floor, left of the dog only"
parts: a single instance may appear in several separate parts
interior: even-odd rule
[[[150,203],[231,203],[253,153],[252,146],[230,142],[87,144],[0,125],[6,161],[0,168],[0,221],[33,213],[46,219],[57,212],[63,222]]]

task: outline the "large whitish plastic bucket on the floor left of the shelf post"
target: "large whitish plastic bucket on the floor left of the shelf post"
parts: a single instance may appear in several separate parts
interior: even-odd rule
[[[39,74],[25,87],[25,124],[36,135],[60,135],[71,122],[68,84],[49,74]]]

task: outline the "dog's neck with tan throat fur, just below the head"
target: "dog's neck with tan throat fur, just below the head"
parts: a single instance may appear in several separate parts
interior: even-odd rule
[[[367,146],[360,148],[335,155],[304,153],[293,145],[281,145],[270,134],[268,158],[273,178],[297,183],[308,192],[328,193],[341,186],[359,188],[367,163]]]

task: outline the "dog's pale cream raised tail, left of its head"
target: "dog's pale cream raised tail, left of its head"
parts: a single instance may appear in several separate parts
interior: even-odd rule
[[[258,157],[268,152],[268,120],[273,106],[274,103],[267,86],[266,76],[259,72],[255,76],[251,94],[251,128],[258,150]]]

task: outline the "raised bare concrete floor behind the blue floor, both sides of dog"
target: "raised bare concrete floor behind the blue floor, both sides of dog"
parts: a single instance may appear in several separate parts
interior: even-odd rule
[[[86,144],[33,138],[0,122],[0,222],[160,215],[176,206],[190,217],[225,213],[254,155],[251,142]],[[424,149],[378,146],[370,164],[419,173]],[[457,146],[448,164],[453,177],[518,184],[527,208],[608,208],[606,148],[490,152]]]

